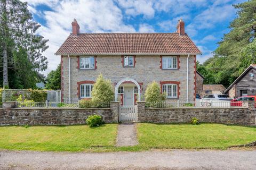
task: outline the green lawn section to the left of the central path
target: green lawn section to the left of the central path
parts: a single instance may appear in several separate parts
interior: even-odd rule
[[[74,126],[3,126],[0,127],[0,148],[40,151],[84,151],[114,147],[117,124],[98,128]]]

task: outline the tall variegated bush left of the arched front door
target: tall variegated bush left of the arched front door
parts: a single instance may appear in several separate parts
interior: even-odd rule
[[[110,80],[103,79],[102,74],[99,75],[92,88],[92,103],[95,107],[99,107],[102,103],[114,101],[115,94]]]

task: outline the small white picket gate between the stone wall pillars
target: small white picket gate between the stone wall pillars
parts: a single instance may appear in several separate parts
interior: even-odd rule
[[[124,105],[119,107],[119,122],[137,122],[138,107],[137,105]]]

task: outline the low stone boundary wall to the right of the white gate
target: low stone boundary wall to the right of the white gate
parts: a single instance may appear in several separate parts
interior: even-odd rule
[[[192,117],[200,122],[256,125],[255,106],[248,108],[145,108],[138,102],[138,122],[190,123]]]

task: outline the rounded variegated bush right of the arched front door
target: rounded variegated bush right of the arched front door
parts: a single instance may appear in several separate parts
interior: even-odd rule
[[[156,81],[148,84],[145,92],[145,101],[149,103],[158,103],[165,100],[166,94],[161,94],[159,84]]]

